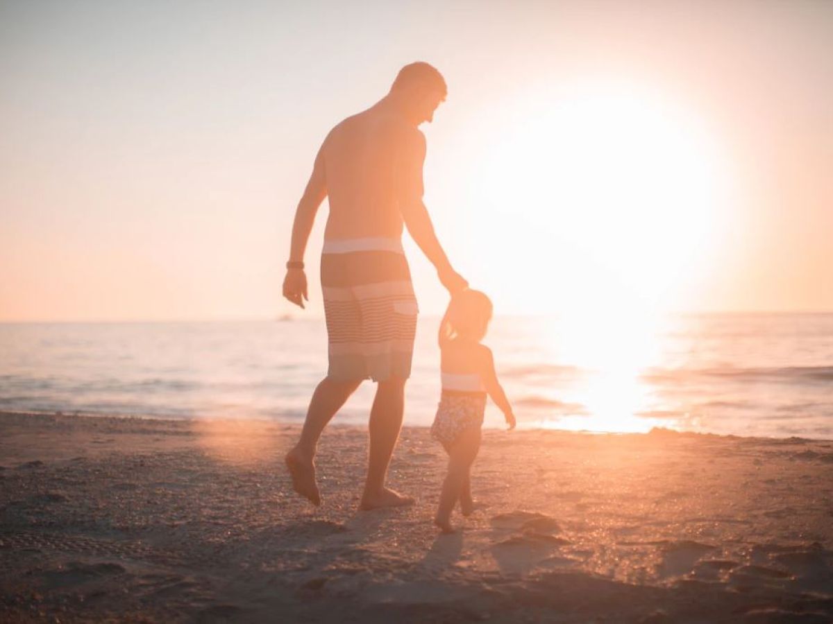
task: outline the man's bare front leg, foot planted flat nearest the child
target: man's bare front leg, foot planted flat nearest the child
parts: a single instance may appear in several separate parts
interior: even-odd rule
[[[362,509],[401,507],[413,498],[402,496],[385,487],[387,466],[402,428],[405,408],[405,379],[394,377],[379,382],[370,412],[370,453],[367,461],[367,482],[362,494]]]

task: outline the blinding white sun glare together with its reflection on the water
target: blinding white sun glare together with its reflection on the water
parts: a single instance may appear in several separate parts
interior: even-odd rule
[[[486,237],[516,228],[509,253],[535,258],[530,303],[558,316],[553,358],[591,371],[560,398],[586,413],[539,424],[671,426],[644,417],[641,372],[657,362],[663,313],[692,304],[686,290],[725,225],[715,138],[693,113],[622,82],[531,90],[495,108],[501,124],[474,174],[496,228]]]

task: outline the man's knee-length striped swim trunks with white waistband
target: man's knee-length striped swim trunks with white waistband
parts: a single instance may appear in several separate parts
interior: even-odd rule
[[[332,379],[407,379],[416,335],[416,297],[402,242],[326,240],[321,285]]]

